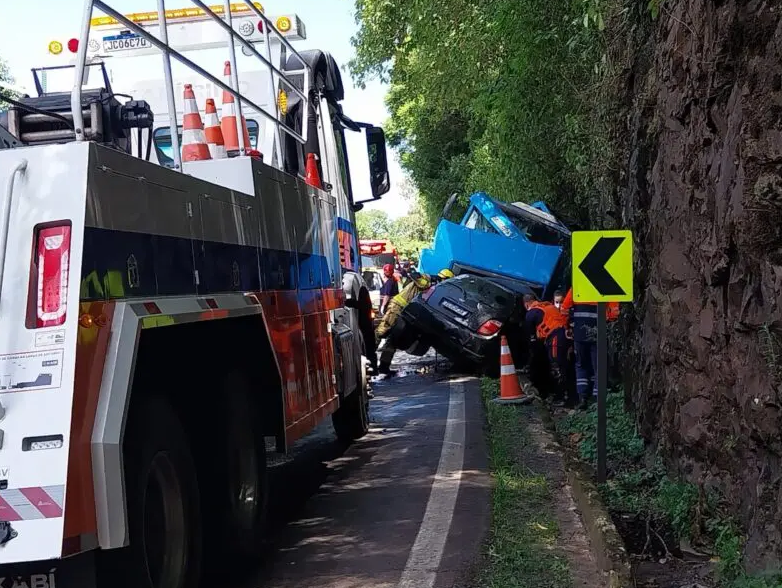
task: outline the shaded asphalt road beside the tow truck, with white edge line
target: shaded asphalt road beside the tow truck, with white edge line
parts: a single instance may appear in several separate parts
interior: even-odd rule
[[[274,544],[242,588],[469,583],[489,524],[478,381],[400,359],[366,437],[345,448],[326,423],[273,468]]]

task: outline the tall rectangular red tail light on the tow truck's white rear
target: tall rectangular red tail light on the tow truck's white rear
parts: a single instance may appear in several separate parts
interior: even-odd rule
[[[68,307],[71,225],[38,229],[35,246],[35,328],[56,327],[65,322]],[[29,321],[33,322],[33,321]]]

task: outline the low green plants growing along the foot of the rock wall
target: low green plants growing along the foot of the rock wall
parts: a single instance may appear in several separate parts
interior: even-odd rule
[[[717,578],[723,588],[782,587],[779,573],[747,575],[742,561],[744,537],[736,522],[724,514],[718,496],[672,479],[659,457],[651,464],[647,461],[643,440],[633,415],[624,408],[621,391],[608,394],[606,411],[609,480],[600,490],[609,510],[662,521],[677,538],[712,551],[717,557]],[[592,466],[597,462],[596,427],[594,405],[557,422],[560,436],[575,444],[581,459]]]

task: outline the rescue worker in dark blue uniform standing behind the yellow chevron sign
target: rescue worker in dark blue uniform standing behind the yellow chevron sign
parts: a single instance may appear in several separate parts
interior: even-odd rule
[[[597,303],[574,302],[573,289],[568,290],[561,311],[568,316],[576,352],[576,392],[580,409],[589,406],[590,398],[597,398]],[[619,303],[606,304],[606,320],[619,317]]]

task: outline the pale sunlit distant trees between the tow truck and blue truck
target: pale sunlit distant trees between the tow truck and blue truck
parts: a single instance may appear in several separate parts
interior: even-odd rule
[[[356,214],[356,228],[360,239],[390,239],[401,258],[418,259],[433,233],[417,196],[408,192],[406,197],[412,206],[405,216],[391,219],[382,210],[362,210]]]

